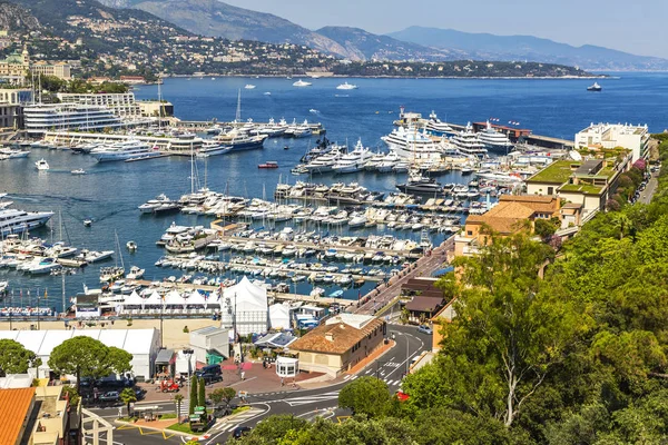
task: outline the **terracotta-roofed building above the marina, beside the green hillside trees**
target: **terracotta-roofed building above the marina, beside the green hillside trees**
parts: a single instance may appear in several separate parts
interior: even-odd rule
[[[556,196],[502,195],[499,202],[483,215],[470,215],[464,229],[454,238],[454,256],[473,256],[487,245],[485,229],[509,236],[524,229],[532,229],[537,219],[559,218],[560,200]]]

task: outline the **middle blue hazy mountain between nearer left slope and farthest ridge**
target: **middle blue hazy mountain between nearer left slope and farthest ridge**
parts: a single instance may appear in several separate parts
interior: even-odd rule
[[[409,43],[387,36],[373,34],[360,28],[325,27],[315,32],[334,40],[360,60],[443,61],[459,56],[446,49]]]

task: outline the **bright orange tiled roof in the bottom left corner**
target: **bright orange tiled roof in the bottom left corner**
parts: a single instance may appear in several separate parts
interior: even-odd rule
[[[35,388],[0,389],[0,445],[28,442],[33,407]]]

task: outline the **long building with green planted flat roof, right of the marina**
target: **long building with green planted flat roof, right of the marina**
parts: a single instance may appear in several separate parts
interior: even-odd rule
[[[617,188],[619,175],[631,167],[632,151],[621,160],[558,160],[525,180],[527,194],[556,196],[567,202],[581,205],[581,224],[602,210]]]

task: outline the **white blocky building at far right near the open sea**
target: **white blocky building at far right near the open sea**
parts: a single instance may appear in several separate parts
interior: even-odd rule
[[[647,142],[649,130],[647,125],[629,123],[591,123],[582,131],[576,134],[576,149],[578,148],[607,148],[623,147],[631,150],[631,162],[649,155]]]

